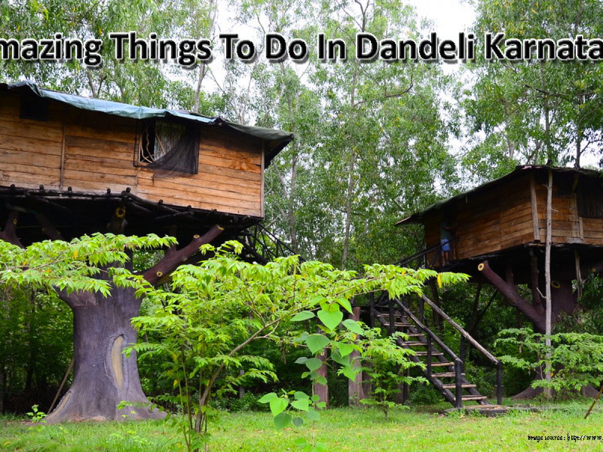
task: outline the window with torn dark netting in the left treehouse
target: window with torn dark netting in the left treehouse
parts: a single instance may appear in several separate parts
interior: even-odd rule
[[[198,128],[180,122],[142,122],[137,163],[167,173],[197,174]]]

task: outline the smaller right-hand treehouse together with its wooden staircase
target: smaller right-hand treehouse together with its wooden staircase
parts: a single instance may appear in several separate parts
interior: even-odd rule
[[[428,268],[464,272],[472,282],[492,284],[532,322],[535,331],[543,333],[549,172],[551,315],[554,322],[563,312],[572,314],[577,307],[573,288],[579,287],[589,272],[603,271],[603,178],[598,171],[519,166],[504,177],[414,213],[397,225],[423,225],[425,250],[403,260],[403,265],[422,258]],[[443,240],[449,240],[447,256]],[[574,284],[576,280],[578,284]],[[517,284],[528,284],[531,298],[522,297]],[[437,289],[433,292],[436,296]],[[436,326],[447,322],[450,331],[456,330],[459,349],[453,350],[437,336],[435,331],[440,328],[429,327],[425,311],[432,313]],[[416,352],[412,359],[425,365],[425,377],[456,407],[469,401],[488,404],[487,397],[464,374],[467,350],[475,348],[482,362],[497,368],[500,404],[500,361],[446,315],[438,300],[434,303],[423,295],[413,304],[408,298],[390,300],[384,293],[371,301],[368,319],[389,333],[406,333],[408,339],[397,339],[398,344]],[[529,388],[516,397],[535,394],[537,391]]]

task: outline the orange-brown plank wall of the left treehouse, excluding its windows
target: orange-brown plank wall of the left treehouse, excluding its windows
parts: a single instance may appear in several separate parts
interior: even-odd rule
[[[49,102],[48,121],[19,118],[20,100],[0,98],[0,184],[105,193],[131,192],[150,201],[263,216],[264,157],[260,139],[203,127],[198,174],[159,175],[134,166],[136,121]],[[64,154],[64,163],[62,155]]]

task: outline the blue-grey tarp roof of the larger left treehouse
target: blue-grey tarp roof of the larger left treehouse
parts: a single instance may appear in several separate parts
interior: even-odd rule
[[[169,108],[151,108],[140,107],[137,105],[124,104],[122,102],[106,101],[103,99],[87,98],[74,94],[62,93],[49,89],[38,87],[32,81],[19,81],[17,83],[0,84],[2,89],[7,90],[29,90],[40,98],[52,99],[63,104],[71,105],[82,110],[99,111],[108,115],[122,116],[123,118],[133,119],[151,119],[151,118],[174,118],[185,119],[186,121],[200,122],[206,125],[226,126],[239,133],[243,133],[252,137],[263,139],[268,144],[266,152],[265,165],[270,165],[270,162],[276,154],[278,154],[289,142],[293,140],[293,134],[277,129],[265,127],[255,127],[251,125],[237,124],[236,122],[227,121],[226,119],[212,116],[203,116],[198,113],[192,113],[182,110],[170,110]]]

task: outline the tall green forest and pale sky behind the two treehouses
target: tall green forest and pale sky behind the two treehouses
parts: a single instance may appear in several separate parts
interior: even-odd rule
[[[603,36],[603,5],[597,0],[476,0],[463,8],[475,11],[475,20],[458,31],[476,36],[485,31],[520,39]],[[210,37],[216,47],[219,33],[245,30],[242,37],[261,43],[274,31],[305,39],[311,48],[323,32],[345,40],[350,52],[359,32],[418,40],[438,31],[411,4],[396,0],[5,0],[0,30],[0,36],[16,39],[45,39],[61,31],[106,42],[112,31],[136,30],[139,36]],[[585,166],[587,159],[601,166],[599,64],[478,58],[451,69],[353,58],[346,63],[309,58],[305,64],[258,58],[251,64],[216,60],[186,70],[176,64],[119,63],[109,54],[103,60],[101,69],[77,61],[4,61],[0,78],[28,78],[48,89],[291,131],[294,142],[266,173],[264,224],[306,259],[339,268],[393,263],[421,250],[420,228],[396,228],[396,221],[516,165]],[[444,310],[472,326],[486,347],[497,331],[522,324],[513,307],[489,291],[475,298],[475,287],[464,286],[441,297]],[[560,328],[601,333],[603,312],[593,301],[598,293],[596,281],[590,283],[582,300],[589,311]],[[24,412],[34,403],[48,407],[72,356],[71,311],[53,295],[37,292],[7,293],[0,303],[0,412]],[[283,362],[295,356],[276,347],[266,353],[282,382],[296,378]],[[152,363],[141,363],[140,372],[147,394],[165,389]],[[487,371],[475,372],[493,380]],[[527,375],[513,372],[505,378],[509,394],[529,383]],[[347,400],[344,385],[341,403]],[[333,382],[334,398],[337,387]]]

